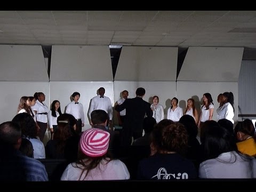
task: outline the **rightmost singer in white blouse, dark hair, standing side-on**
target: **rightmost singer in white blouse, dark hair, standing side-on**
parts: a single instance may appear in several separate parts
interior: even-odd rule
[[[218,120],[226,118],[234,124],[234,94],[232,92],[225,92],[222,94],[221,101],[223,102],[223,106],[219,110]]]

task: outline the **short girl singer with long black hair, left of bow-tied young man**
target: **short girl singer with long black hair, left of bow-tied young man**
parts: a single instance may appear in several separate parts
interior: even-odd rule
[[[51,110],[48,113],[51,139],[52,139],[52,134],[57,130],[57,117],[59,117],[61,114],[62,113],[60,109],[60,101],[54,100],[51,105]]]

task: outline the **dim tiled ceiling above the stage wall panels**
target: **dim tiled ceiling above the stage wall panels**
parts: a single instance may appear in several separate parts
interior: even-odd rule
[[[0,44],[256,48],[256,11],[0,11]]]

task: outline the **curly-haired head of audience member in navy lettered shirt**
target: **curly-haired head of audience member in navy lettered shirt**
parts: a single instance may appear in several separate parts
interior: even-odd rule
[[[174,152],[185,154],[188,145],[188,134],[181,123],[156,127],[152,132],[153,146],[158,153]]]

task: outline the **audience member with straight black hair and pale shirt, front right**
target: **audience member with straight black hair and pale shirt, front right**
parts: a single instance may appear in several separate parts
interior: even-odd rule
[[[256,177],[256,159],[238,152],[233,134],[219,125],[206,130],[203,145],[207,160],[199,166],[199,178]]]

